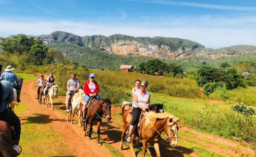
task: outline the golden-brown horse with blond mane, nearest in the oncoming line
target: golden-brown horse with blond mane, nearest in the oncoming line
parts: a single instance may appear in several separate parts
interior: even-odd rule
[[[125,106],[125,105],[124,105]],[[123,140],[124,134],[128,130],[128,122],[126,121],[129,110],[126,110],[128,107],[123,107],[123,132],[121,136],[121,143],[120,148],[123,150]],[[165,132],[167,135],[166,141],[170,142],[172,147],[175,147],[178,144],[178,126],[177,121],[179,118],[172,116],[170,113],[155,113],[155,112],[145,112],[146,118],[142,120],[142,129],[139,129],[141,135],[138,134],[138,131],[135,131],[131,135],[130,141],[130,150],[132,152],[133,157],[136,157],[134,150],[133,150],[133,139],[135,136],[141,137],[143,142],[143,157],[145,157],[146,151],[150,153],[149,149],[147,148],[147,143],[153,143],[155,150],[157,152],[157,157],[160,157],[160,150],[158,141],[161,138],[161,132]],[[146,124],[145,124],[146,123]]]

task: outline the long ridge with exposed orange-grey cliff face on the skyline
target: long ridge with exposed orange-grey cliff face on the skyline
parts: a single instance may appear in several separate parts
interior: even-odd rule
[[[109,37],[93,35],[80,37],[72,33],[55,31],[49,35],[39,36],[46,45],[56,43],[75,43],[92,50],[102,50],[111,54],[138,55],[157,58],[174,58],[181,54],[193,52],[196,48],[204,48],[203,45],[180,38],[165,37],[132,37],[115,34]]]

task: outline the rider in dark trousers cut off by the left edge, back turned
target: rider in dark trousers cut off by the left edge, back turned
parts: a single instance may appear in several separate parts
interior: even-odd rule
[[[0,75],[2,74],[2,66],[0,65]],[[6,121],[11,126],[14,126],[16,140],[13,145],[13,150],[20,153],[19,141],[21,136],[21,122],[19,117],[8,107],[7,104],[13,102],[14,93],[13,86],[9,81],[0,80],[0,85],[2,87],[2,102],[0,103],[0,120]]]

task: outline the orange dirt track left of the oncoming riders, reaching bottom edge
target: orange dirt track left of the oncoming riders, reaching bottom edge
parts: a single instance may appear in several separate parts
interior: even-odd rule
[[[60,111],[52,111],[50,107],[39,105],[35,81],[24,82],[21,94],[22,102],[28,104],[27,111],[20,117],[21,123],[24,123],[27,117],[31,116],[34,111],[40,111],[42,115],[49,116],[52,128],[62,133],[65,141],[69,144],[72,152],[77,157],[112,157],[111,154],[103,147],[98,147],[95,140],[88,140],[83,136],[83,131],[78,125],[70,125],[66,122],[66,116]]]

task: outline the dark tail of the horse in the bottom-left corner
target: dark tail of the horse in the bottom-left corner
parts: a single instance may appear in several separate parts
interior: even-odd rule
[[[12,148],[8,147],[10,143],[10,137],[0,133],[0,155],[3,157],[12,157]]]

